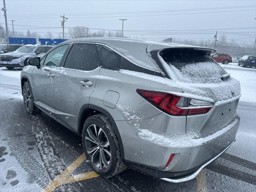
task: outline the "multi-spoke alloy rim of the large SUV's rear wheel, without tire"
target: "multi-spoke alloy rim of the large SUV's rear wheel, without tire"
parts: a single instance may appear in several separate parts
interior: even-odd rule
[[[85,143],[87,158],[98,169],[107,169],[111,160],[111,150],[108,138],[102,128],[95,124],[90,125],[86,131]]]

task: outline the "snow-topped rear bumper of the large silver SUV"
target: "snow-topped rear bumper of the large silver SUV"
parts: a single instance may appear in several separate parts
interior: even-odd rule
[[[196,177],[200,170],[218,158],[230,147],[235,140],[239,123],[240,118],[236,116],[230,125],[220,130],[219,133],[216,132],[206,137],[209,139],[204,140],[203,143],[197,146],[168,148],[159,145],[154,146],[157,144],[145,144],[145,141],[143,141],[140,143],[140,146],[137,145],[137,148],[142,148],[143,144],[149,146],[151,148],[151,156],[144,159],[144,164],[136,163],[136,161],[128,161],[128,163],[136,170],[144,172],[154,178],[161,178],[169,182],[191,180]],[[186,144],[184,144],[184,146],[186,146]],[[146,150],[144,149],[144,151]],[[161,164],[165,166],[172,153],[175,153],[175,156],[166,168],[162,166],[152,166],[157,164],[157,161],[160,162],[161,160],[164,162],[161,162]],[[160,156],[160,158],[158,156]],[[135,159],[135,157],[133,158]]]

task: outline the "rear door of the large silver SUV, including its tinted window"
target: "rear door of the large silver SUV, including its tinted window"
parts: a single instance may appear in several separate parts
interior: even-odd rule
[[[54,100],[57,121],[76,131],[80,108],[89,104],[99,74],[96,44],[75,43],[64,66],[56,71]]]

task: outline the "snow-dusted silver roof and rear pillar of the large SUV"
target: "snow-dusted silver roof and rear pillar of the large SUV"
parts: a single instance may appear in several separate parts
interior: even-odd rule
[[[154,65],[152,60],[149,58],[147,51],[160,50],[166,48],[202,48],[205,50],[214,51],[214,49],[177,44],[177,43],[167,43],[167,42],[154,42],[146,40],[137,40],[129,38],[107,38],[107,37],[97,37],[97,38],[78,38],[66,40],[63,43],[71,42],[95,42],[105,44],[116,52],[128,58],[128,60],[142,66],[144,68],[158,71],[158,68]],[[63,44],[62,43],[62,44]]]

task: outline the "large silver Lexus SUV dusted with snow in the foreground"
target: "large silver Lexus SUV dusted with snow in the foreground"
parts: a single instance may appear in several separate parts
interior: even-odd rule
[[[183,182],[229,148],[240,122],[240,83],[212,51],[123,38],[68,40],[28,60],[24,104],[80,134],[102,176],[131,166]]]

